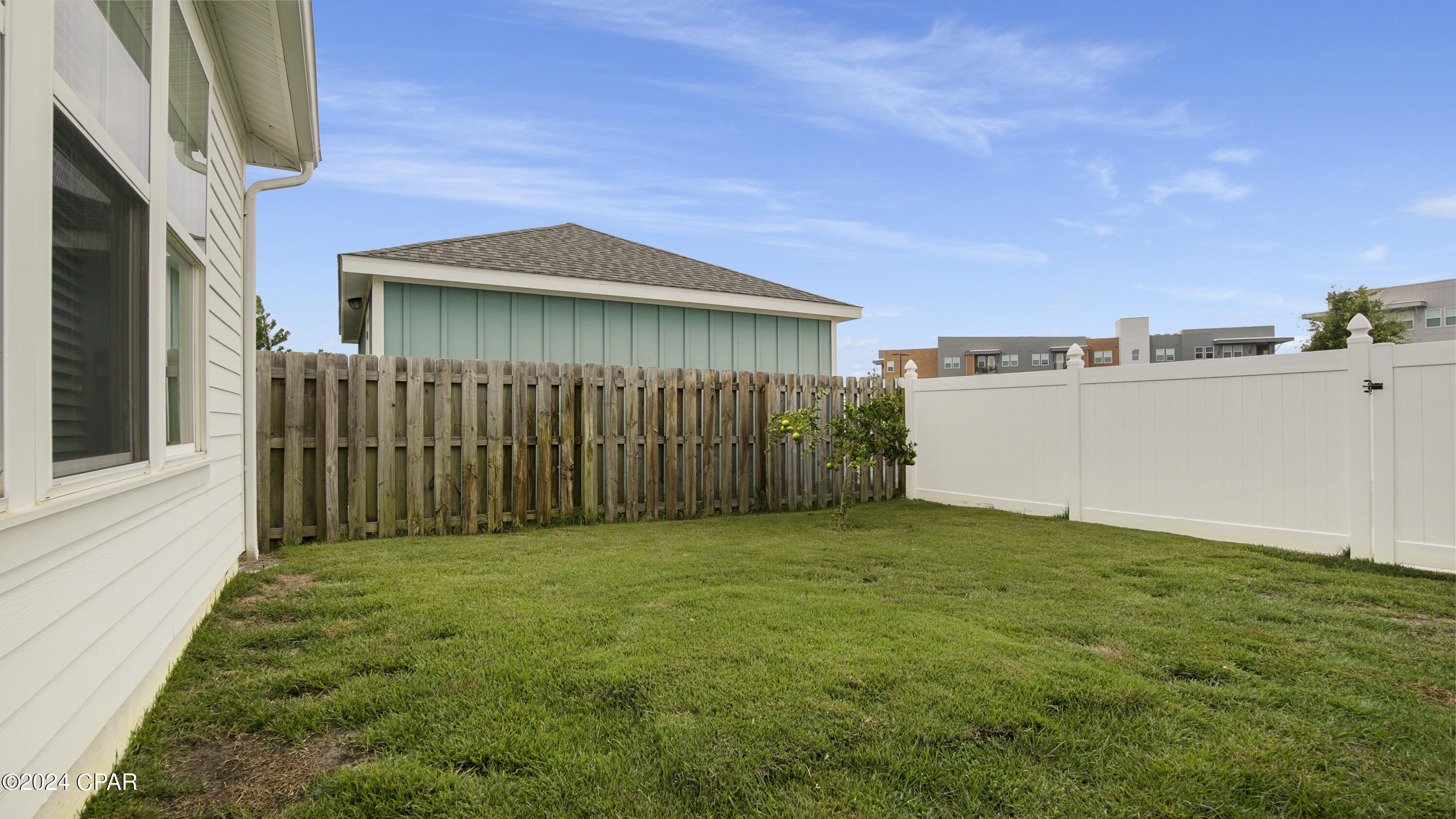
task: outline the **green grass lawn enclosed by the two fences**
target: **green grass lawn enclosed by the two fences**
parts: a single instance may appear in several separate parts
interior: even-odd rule
[[[920,502],[285,548],[89,816],[1441,816],[1456,578]]]

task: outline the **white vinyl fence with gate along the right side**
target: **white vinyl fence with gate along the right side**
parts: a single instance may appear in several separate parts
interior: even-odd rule
[[[1085,368],[1073,346],[1066,369],[903,378],[906,493],[1456,572],[1456,342],[1367,327],[1342,351]]]

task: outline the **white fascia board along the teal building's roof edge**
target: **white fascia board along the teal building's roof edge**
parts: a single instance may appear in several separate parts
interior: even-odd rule
[[[479,289],[504,289],[510,292],[534,292],[542,295],[575,295],[603,298],[607,301],[635,301],[638,304],[667,304],[671,307],[705,307],[731,310],[735,313],[760,313],[769,316],[792,316],[795,319],[821,319],[827,321],[850,321],[859,319],[865,308],[853,304],[823,304],[817,301],[794,301],[763,295],[740,295],[708,289],[680,287],[641,285],[552,276],[545,273],[517,273],[511,271],[488,271],[462,268],[457,265],[435,265],[430,262],[400,262],[371,256],[339,255],[339,269],[344,273],[381,276],[386,281],[409,281],[444,287],[470,287]],[[342,295],[342,294],[341,294]]]

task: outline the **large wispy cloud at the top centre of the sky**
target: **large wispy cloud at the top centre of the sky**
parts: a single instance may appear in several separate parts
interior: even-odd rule
[[[731,0],[546,0],[534,7],[713,54],[747,70],[747,96],[760,105],[827,127],[875,122],[976,153],[990,151],[996,137],[1061,125],[1195,131],[1181,105],[1149,112],[1108,99],[1112,80],[1153,54],[1146,47],[1041,42],[957,19],[936,20],[922,36],[855,36]]]

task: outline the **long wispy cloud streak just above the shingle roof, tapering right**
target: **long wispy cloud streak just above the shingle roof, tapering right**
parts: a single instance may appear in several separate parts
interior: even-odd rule
[[[543,211],[552,218],[732,234],[831,257],[894,252],[970,263],[1047,262],[1045,253],[1009,243],[826,218],[802,205],[799,192],[767,182],[658,170],[651,157],[625,150],[632,140],[620,132],[593,124],[476,115],[470,100],[437,99],[421,86],[357,86],[320,103],[339,125],[329,143],[331,161],[317,175],[325,183]],[[428,127],[419,125],[424,112],[435,112]]]

